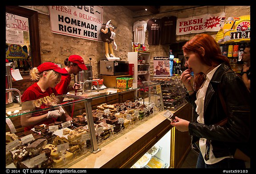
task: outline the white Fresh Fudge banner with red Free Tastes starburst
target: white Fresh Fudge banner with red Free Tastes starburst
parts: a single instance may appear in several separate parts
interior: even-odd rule
[[[220,22],[225,13],[205,14],[177,19],[176,35],[219,31]]]

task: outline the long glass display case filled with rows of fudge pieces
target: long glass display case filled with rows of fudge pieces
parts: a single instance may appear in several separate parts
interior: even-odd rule
[[[132,93],[133,99],[124,101],[126,93]],[[49,124],[29,131],[20,124],[24,118],[54,110],[64,113]],[[6,167],[68,167],[163,110],[161,86],[155,82],[144,82],[136,89],[78,91],[6,104]],[[72,120],[66,121],[68,116]]]

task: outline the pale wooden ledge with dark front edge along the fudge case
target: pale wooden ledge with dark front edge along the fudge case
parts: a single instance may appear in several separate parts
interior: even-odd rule
[[[171,127],[169,120],[157,114],[69,168],[130,168]]]

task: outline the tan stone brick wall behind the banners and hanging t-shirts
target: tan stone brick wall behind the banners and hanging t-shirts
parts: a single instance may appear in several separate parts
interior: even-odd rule
[[[183,6],[189,8],[191,6]],[[192,15],[203,15],[207,13],[226,12],[228,17],[238,17],[241,15],[250,15],[250,6],[202,6],[198,8],[189,8],[186,10],[175,11],[180,6],[160,6],[160,13],[148,15],[144,12],[133,13],[123,6],[103,6],[103,23],[111,19],[116,29],[117,50],[114,51],[116,57],[127,60],[128,52],[132,51],[132,26],[139,19],[148,21],[153,17],[162,18],[164,16],[178,16],[179,18],[188,18]],[[89,63],[92,58],[93,78],[99,78],[99,61],[104,58],[104,43],[88,39],[80,39],[65,35],[58,35],[51,32],[49,15],[38,15],[40,31],[40,51],[42,62],[56,62],[64,67],[64,59],[71,54],[79,54],[84,58],[84,62]],[[148,45],[148,32],[146,32],[146,48],[151,52],[151,62],[154,56],[168,56],[169,45]],[[213,37],[217,32],[208,32]],[[191,39],[195,34],[177,36],[177,42],[184,42]],[[152,64],[153,66],[153,64]],[[153,67],[150,68],[153,70]],[[151,72],[152,73],[152,72]],[[73,84],[73,78],[71,85]]]

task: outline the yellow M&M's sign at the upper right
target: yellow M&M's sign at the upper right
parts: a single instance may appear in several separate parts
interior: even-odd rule
[[[220,24],[220,31],[216,35],[217,43],[230,43],[250,41],[251,22],[250,15],[228,17]]]

